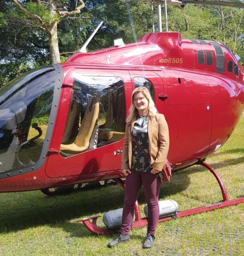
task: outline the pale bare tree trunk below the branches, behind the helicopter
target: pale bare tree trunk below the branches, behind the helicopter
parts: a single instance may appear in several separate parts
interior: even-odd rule
[[[59,55],[59,45],[57,39],[57,22],[48,26],[49,32],[48,33],[48,43],[49,43],[49,51],[51,57],[51,63],[59,63],[60,62],[60,55]]]

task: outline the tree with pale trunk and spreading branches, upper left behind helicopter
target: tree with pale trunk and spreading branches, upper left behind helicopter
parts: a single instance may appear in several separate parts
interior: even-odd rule
[[[17,0],[13,2],[18,8],[34,19],[35,25],[43,28],[48,34],[48,44],[51,57],[51,63],[59,63],[59,47],[57,37],[57,24],[65,18],[81,13],[81,9],[85,7],[82,0],[71,1],[73,9],[68,10],[65,0],[37,0],[36,3],[28,2],[24,8]],[[75,4],[74,4],[75,3]]]

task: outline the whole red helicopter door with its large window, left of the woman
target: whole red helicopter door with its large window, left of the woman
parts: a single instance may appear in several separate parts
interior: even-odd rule
[[[82,182],[111,179],[111,171],[118,177],[131,92],[128,71],[94,66],[69,71],[46,174],[79,175]]]

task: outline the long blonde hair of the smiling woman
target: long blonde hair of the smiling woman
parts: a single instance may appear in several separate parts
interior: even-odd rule
[[[131,95],[131,106],[129,108],[129,116],[126,119],[127,122],[130,122],[131,119],[133,118],[134,115],[138,114],[138,110],[135,107],[135,104],[133,102],[134,99],[134,95],[142,92],[146,98],[146,100],[148,101],[148,115],[155,115],[157,113],[157,109],[155,107],[155,104],[153,102],[153,99],[151,97],[151,94],[148,90],[148,88],[146,87],[137,87],[135,90],[133,90],[132,95]]]

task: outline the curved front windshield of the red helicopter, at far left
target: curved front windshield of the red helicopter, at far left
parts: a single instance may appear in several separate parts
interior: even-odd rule
[[[39,160],[52,107],[53,66],[28,72],[0,89],[0,173]]]

